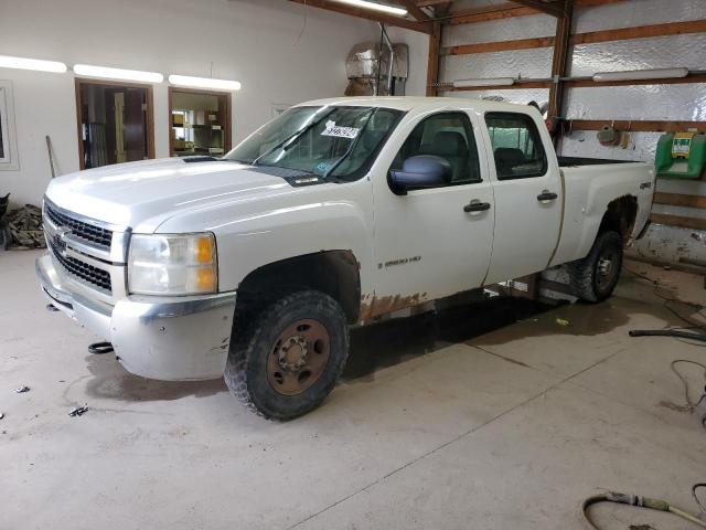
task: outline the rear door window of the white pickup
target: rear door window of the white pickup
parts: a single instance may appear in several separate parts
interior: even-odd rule
[[[488,113],[499,180],[541,177],[547,171],[547,157],[534,120],[526,114]]]

